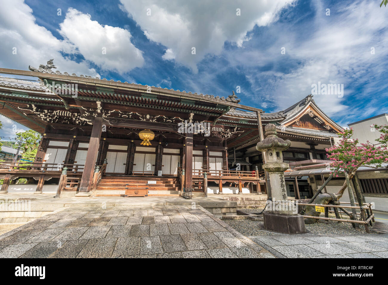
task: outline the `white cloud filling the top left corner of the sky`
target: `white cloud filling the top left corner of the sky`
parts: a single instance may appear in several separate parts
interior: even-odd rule
[[[88,67],[87,62],[76,63],[63,57],[61,51],[73,53],[75,47],[55,38],[45,27],[36,24],[32,13],[32,9],[23,0],[2,1],[0,9],[2,67],[26,70],[28,65],[38,67],[39,64],[46,64],[47,60],[54,58],[54,63],[61,72],[99,76],[95,69]],[[15,48],[16,54],[13,54]]]

